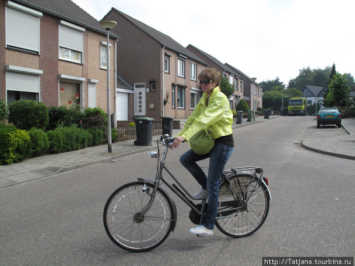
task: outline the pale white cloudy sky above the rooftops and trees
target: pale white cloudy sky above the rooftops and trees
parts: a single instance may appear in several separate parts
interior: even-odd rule
[[[112,7],[229,63],[285,85],[303,67],[355,77],[354,0],[73,0],[100,20]]]

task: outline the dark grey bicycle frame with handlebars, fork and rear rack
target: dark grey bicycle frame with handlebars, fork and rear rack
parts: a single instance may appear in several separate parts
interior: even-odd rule
[[[200,217],[202,217],[202,215],[204,214],[204,212],[203,212],[204,207],[205,207],[205,205],[207,203],[207,197],[202,200],[202,207],[199,210],[198,207],[196,206],[196,204],[194,202],[192,202],[192,200],[191,200],[191,199],[194,199],[194,197],[187,191],[187,189],[183,186],[183,184],[181,184],[181,182],[179,180],[177,180],[177,178],[165,166],[165,159],[166,159],[168,150],[171,148],[171,142],[173,141],[173,138],[164,136],[164,138],[161,138],[160,141],[159,141],[159,139],[156,140],[157,146],[158,146],[158,152],[151,151],[149,153],[151,158],[157,158],[158,159],[158,164],[160,162],[160,168],[159,168],[159,170],[158,170],[158,172],[156,174],[155,181],[147,180],[147,179],[143,179],[143,178],[138,178],[138,180],[140,180],[140,181],[147,181],[147,182],[151,182],[151,183],[155,184],[153,193],[151,195],[151,199],[148,202],[148,204],[145,206],[145,208],[143,210],[141,210],[140,217],[143,217],[146,214],[146,212],[149,210],[149,208],[152,206],[152,203],[154,201],[158,186],[161,186],[160,182],[164,183],[168,188],[170,188],[170,190],[174,194],[176,194],[177,197],[182,199],[191,209],[193,209]],[[162,157],[161,160],[160,160],[160,153],[159,153],[159,143],[161,143],[161,144],[163,144],[165,146],[165,151],[163,153],[163,157]],[[162,174],[163,170],[165,170],[170,175],[170,177],[177,183],[177,185],[174,184],[174,183],[170,184],[168,181],[166,181],[163,178],[163,174]],[[250,171],[253,171],[253,170],[255,171],[255,173],[250,172]],[[229,174],[229,173],[234,173],[234,174],[247,173],[247,174],[254,175],[258,179],[259,186],[260,186],[260,182],[263,182],[265,184],[265,186],[268,187],[267,186],[267,180],[266,179],[264,180],[262,178],[263,170],[261,168],[258,168],[258,167],[255,167],[255,166],[231,168],[231,169],[226,170],[226,171],[223,172],[222,178],[221,178],[221,182],[222,181],[227,181],[229,183],[229,187],[231,189],[233,189],[234,195],[236,197],[235,200],[239,200],[241,202],[247,202],[246,199],[250,198],[251,196],[242,195],[242,199],[238,196],[238,194],[235,191],[234,187],[231,185],[230,181],[227,178],[227,174]],[[258,176],[256,173],[258,173],[260,175]],[[248,184],[248,186],[251,186],[251,183]],[[246,191],[249,191],[249,187],[247,188]],[[270,195],[270,191],[269,191],[268,188],[267,188],[267,193],[269,194],[270,200],[271,200],[271,195]],[[242,207],[236,207],[236,208],[229,209],[229,210],[230,211],[238,210],[240,208],[242,208]],[[223,210],[222,211],[218,211],[218,214],[222,213],[222,212],[223,212]]]

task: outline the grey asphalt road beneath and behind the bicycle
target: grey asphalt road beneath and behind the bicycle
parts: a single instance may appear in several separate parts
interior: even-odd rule
[[[154,178],[147,153],[0,191],[0,265],[261,265],[263,256],[353,256],[355,165],[300,147],[311,117],[282,117],[234,131],[227,167],[262,167],[269,179],[269,215],[254,235],[233,239],[216,228],[198,238],[187,206],[177,206],[175,231],[156,249],[130,253],[105,234],[110,194],[137,177]],[[197,182],[169,152],[167,166],[197,192]],[[201,162],[207,169],[208,160]]]

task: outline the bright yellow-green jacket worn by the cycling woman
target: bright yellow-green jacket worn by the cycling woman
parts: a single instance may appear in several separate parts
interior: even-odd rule
[[[206,106],[207,94],[203,93],[200,101],[186,121],[185,127],[177,136],[189,140],[201,129],[211,128],[214,138],[232,134],[233,113],[226,95],[216,87]]]

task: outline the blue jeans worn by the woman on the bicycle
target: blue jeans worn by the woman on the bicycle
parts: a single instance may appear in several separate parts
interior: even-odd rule
[[[192,174],[203,189],[207,189],[208,204],[202,225],[208,229],[214,229],[217,208],[218,193],[220,191],[220,179],[228,159],[232,156],[234,147],[223,143],[215,143],[215,146],[206,155],[195,154],[192,149],[186,151],[180,157],[181,164]],[[208,178],[196,162],[209,157]]]

